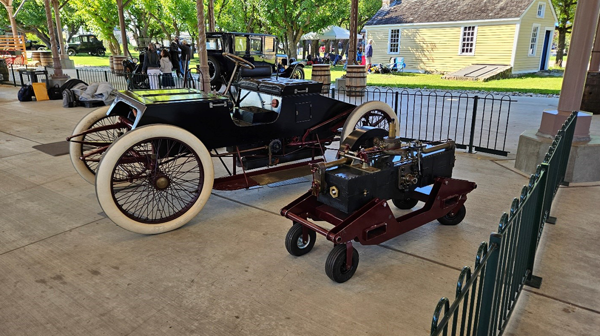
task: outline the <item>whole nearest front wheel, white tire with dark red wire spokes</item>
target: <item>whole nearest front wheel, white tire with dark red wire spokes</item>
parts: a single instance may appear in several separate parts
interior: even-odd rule
[[[110,145],[96,174],[96,196],[121,228],[160,234],[196,217],[213,181],[211,156],[196,136],[155,124],[127,132]]]

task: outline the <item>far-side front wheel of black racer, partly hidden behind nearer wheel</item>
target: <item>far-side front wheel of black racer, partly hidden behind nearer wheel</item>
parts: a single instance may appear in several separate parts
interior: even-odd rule
[[[73,135],[80,134],[82,132],[87,131],[88,129],[118,123],[118,116],[106,115],[106,112],[108,110],[109,106],[97,108],[96,110],[83,117],[83,119],[79,123],[77,123],[75,129],[73,129]],[[74,142],[69,143],[69,156],[71,157],[71,163],[73,164],[73,167],[75,168],[77,173],[84,180],[88,181],[91,184],[94,184],[96,178],[96,169],[98,168],[98,162],[100,162],[103,152],[87,156],[85,160],[82,160],[80,158],[84,155],[89,155],[90,153],[93,153],[94,151],[97,151],[98,149],[101,149],[104,146],[109,146],[118,137],[120,137],[127,131],[129,131],[129,128],[126,125],[122,125],[122,127],[119,128],[108,129],[106,131],[98,131],[71,139],[75,141],[104,143],[98,145],[84,145]]]

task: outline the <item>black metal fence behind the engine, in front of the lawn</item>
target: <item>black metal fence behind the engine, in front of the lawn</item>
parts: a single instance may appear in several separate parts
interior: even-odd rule
[[[461,149],[507,156],[506,132],[511,105],[509,96],[458,95],[417,90],[331,89],[331,98],[355,105],[379,100],[394,108],[400,136],[426,141],[451,138]]]

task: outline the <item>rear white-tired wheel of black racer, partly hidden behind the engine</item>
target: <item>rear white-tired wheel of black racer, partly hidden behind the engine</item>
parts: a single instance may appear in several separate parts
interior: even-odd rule
[[[371,126],[374,128],[381,128],[389,131],[389,125],[392,119],[396,119],[394,110],[381,101],[368,101],[364,104],[359,105],[350,113],[344,128],[341,132],[341,140],[343,141],[352,133],[355,129],[361,128],[362,126]],[[400,134],[400,128],[398,122],[396,123],[396,135]]]

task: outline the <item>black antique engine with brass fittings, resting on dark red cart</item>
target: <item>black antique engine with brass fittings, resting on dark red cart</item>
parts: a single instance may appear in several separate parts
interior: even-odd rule
[[[371,199],[392,199],[399,208],[412,208],[411,192],[434,183],[436,177],[452,177],[454,141],[441,144],[395,137],[368,126],[356,129],[341,144],[340,159],[313,164],[313,195],[344,213],[352,213]]]

